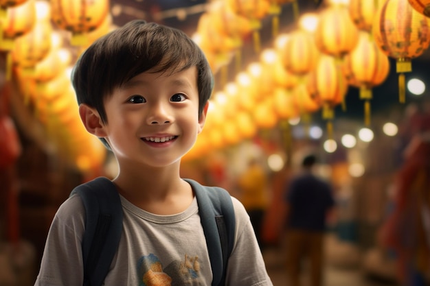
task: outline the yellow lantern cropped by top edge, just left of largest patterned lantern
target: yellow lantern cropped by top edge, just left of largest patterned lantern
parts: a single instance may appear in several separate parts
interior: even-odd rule
[[[377,2],[378,0],[350,0],[348,12],[358,29],[372,31],[373,19],[378,10]]]

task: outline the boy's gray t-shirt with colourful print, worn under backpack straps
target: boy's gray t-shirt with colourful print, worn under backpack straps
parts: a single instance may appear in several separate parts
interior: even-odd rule
[[[236,237],[226,285],[272,285],[249,217],[232,198]],[[124,210],[120,246],[105,285],[206,285],[212,270],[196,198],[185,211],[155,215],[121,197]],[[58,209],[49,229],[35,285],[82,286],[81,238],[84,206],[73,195]]]

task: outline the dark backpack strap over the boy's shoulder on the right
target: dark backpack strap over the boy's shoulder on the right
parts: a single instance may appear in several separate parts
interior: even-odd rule
[[[199,204],[199,215],[205,233],[212,267],[212,286],[225,285],[227,263],[234,245],[236,218],[230,194],[219,187],[205,187],[190,179]]]

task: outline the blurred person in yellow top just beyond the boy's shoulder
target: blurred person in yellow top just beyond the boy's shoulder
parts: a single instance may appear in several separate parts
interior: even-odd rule
[[[250,158],[247,169],[238,177],[240,202],[247,210],[260,249],[264,248],[262,230],[264,215],[269,207],[269,185],[266,171],[257,158]]]

